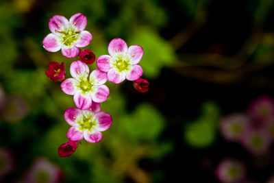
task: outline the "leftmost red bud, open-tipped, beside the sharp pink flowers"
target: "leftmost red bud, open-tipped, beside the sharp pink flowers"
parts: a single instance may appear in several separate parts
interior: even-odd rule
[[[62,82],[66,79],[66,71],[64,70],[64,62],[50,62],[49,70],[46,71],[47,77],[53,81]]]

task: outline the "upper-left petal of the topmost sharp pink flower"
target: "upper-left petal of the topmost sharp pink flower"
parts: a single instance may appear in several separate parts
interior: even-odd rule
[[[66,17],[55,15],[49,19],[49,29],[53,34],[58,34],[55,30],[60,31],[63,27],[69,27],[69,21]]]

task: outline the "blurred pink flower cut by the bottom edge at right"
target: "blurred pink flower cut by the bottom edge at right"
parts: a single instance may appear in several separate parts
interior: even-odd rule
[[[238,183],[245,178],[245,166],[237,160],[223,160],[215,170],[216,178],[223,183]]]

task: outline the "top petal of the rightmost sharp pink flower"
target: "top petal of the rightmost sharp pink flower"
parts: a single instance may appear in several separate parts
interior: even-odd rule
[[[121,38],[114,38],[108,45],[108,53],[110,53],[110,56],[117,52],[127,53],[127,43]]]

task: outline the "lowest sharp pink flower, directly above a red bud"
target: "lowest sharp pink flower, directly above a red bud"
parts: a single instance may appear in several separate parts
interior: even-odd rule
[[[100,111],[99,103],[92,103],[89,110],[68,108],[64,112],[64,119],[71,128],[67,138],[71,141],[81,141],[83,138],[88,143],[98,143],[102,139],[102,133],[110,128],[112,117],[107,112]]]

